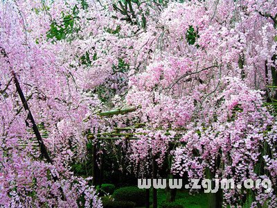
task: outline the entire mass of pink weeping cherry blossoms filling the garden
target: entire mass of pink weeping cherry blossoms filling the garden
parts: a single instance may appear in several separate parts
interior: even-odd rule
[[[1,1],[0,207],[102,207],[72,164],[97,135],[136,123],[128,173],[170,158],[188,179],[267,178],[251,207],[277,207],[276,89],[276,0]],[[99,114],[126,106],[136,111]],[[97,154],[123,144],[100,141]],[[247,194],[223,190],[222,206]]]

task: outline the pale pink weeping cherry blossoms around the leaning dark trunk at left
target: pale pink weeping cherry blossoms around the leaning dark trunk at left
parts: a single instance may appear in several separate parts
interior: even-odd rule
[[[1,206],[102,206],[91,183],[75,177],[69,166],[85,157],[84,131],[98,122],[94,117],[83,120],[100,102],[84,94],[75,81],[77,72],[61,54],[66,44],[51,44],[47,37],[57,13],[60,16],[73,5],[1,2]],[[43,10],[48,6],[52,7]],[[15,78],[37,125],[47,135],[44,144],[53,164],[40,161],[39,148],[29,142],[35,137],[33,123],[17,94]]]

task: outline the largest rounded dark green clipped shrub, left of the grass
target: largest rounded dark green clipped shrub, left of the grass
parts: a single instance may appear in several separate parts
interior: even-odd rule
[[[145,205],[146,193],[145,189],[138,187],[123,187],[114,191],[114,200],[116,201],[132,201],[136,206]]]

